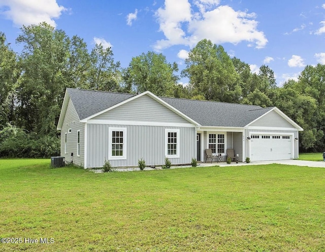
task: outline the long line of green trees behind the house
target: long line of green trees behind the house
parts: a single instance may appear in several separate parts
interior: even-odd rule
[[[325,65],[306,66],[298,81],[278,87],[269,66],[252,73],[207,39],[190,50],[180,76],[162,53],[142,53],[122,68],[111,48],[96,44],[89,52],[82,38],[45,22],[23,26],[16,43],[19,53],[0,32],[0,156],[59,154],[56,125],[67,87],[276,106],[304,128],[301,151],[325,149]]]

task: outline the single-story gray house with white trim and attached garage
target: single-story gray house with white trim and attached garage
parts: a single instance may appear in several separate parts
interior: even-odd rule
[[[204,162],[206,149],[238,160],[297,159],[303,129],[276,107],[67,88],[57,125],[61,156],[84,168]]]

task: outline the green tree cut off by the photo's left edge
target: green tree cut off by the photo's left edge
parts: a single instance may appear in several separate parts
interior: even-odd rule
[[[6,36],[0,32],[0,130],[14,118],[14,98],[19,71],[16,53],[6,44]]]

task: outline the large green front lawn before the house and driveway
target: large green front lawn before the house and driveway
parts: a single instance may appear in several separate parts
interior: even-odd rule
[[[325,169],[96,174],[0,160],[0,251],[325,251]]]

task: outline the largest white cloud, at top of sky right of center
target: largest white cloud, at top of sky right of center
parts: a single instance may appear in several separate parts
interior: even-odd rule
[[[173,45],[193,46],[205,38],[215,44],[247,41],[248,46],[265,47],[268,40],[263,31],[257,30],[255,13],[235,11],[229,6],[215,8],[219,2],[196,0],[191,6],[188,0],[165,0],[165,7],[159,8],[156,16],[166,39],[156,41],[154,49],[160,51]],[[199,12],[193,11],[195,6]]]

